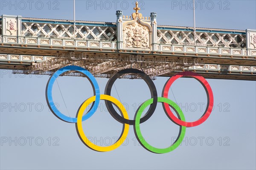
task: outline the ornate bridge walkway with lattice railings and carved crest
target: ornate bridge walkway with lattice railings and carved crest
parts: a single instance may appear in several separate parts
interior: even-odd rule
[[[116,11],[113,23],[2,15],[0,69],[51,75],[79,65],[96,77],[137,68],[152,79],[189,70],[205,78],[256,80],[256,30],[161,26],[157,13],[134,10],[131,16]]]

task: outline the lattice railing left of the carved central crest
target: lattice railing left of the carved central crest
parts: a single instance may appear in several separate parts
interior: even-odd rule
[[[24,37],[74,38],[73,24],[22,22]],[[76,25],[76,39],[116,41],[116,26]]]

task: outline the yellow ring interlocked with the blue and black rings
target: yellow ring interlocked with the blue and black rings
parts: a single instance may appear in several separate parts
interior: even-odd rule
[[[84,110],[87,108],[87,106],[90,103],[95,101],[95,98],[96,98],[96,96],[90,97],[89,99],[84,101],[84,103],[79,108],[79,111],[78,111],[78,114],[77,114],[77,123],[76,123],[76,128],[77,128],[77,131],[78,131],[78,135],[80,136],[80,139],[82,140],[82,142],[84,142],[84,144],[92,150],[96,150],[96,151],[99,151],[99,152],[111,151],[111,150],[114,150],[117,147],[119,147],[125,141],[125,139],[128,135],[129,125],[128,124],[123,125],[123,130],[122,130],[121,136],[119,137],[119,139],[114,144],[112,144],[110,146],[102,147],[102,146],[98,146],[98,145],[94,144],[93,142],[90,142],[90,140],[84,134],[84,130],[83,130],[83,127],[82,127],[82,116],[83,116]],[[109,96],[109,95],[101,94],[100,95],[100,100],[108,100],[110,102],[113,102],[113,104],[115,104],[116,107],[119,108],[119,111],[121,111],[121,114],[124,116],[124,118],[129,119],[128,113],[127,113],[125,107],[116,98],[114,98],[112,96]]]

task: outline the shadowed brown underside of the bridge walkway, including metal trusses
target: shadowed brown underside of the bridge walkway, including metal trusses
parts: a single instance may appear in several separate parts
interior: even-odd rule
[[[157,76],[172,77],[179,71],[195,71],[205,78],[209,79],[237,79],[237,80],[256,80],[256,72],[253,72],[255,66],[254,59],[232,58],[230,56],[203,54],[137,54],[120,51],[98,51],[90,50],[72,50],[62,48],[35,49],[29,47],[9,47],[2,45],[0,53],[8,55],[26,56],[44,56],[48,57],[46,61],[1,61],[0,69],[11,69],[14,74],[44,74],[51,75],[59,68],[66,65],[79,65],[90,71],[95,77],[111,77],[117,71],[125,68],[137,68],[144,71],[152,79]],[[53,57],[55,56],[55,57]],[[239,67],[236,71],[230,71],[231,66]],[[249,70],[241,71],[241,65],[251,67]],[[76,72],[68,72],[67,76],[84,76]],[[122,78],[140,78],[135,75],[125,75]]]

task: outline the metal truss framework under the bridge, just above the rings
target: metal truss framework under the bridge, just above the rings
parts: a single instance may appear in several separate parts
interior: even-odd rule
[[[75,54],[69,52],[61,54],[47,61],[31,65],[25,70],[16,70],[14,73],[22,74],[49,74],[67,65],[78,65],[86,68],[96,77],[111,77],[117,71],[125,68],[137,68],[155,79],[156,76],[168,74],[169,72],[184,69],[192,65],[204,66],[201,59],[169,59],[156,57],[143,57],[140,55],[97,55],[97,54]],[[65,75],[83,76],[79,73],[67,73]],[[125,75],[122,78],[139,78],[136,75]]]

